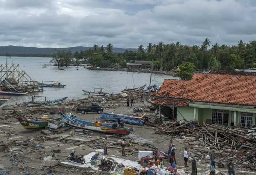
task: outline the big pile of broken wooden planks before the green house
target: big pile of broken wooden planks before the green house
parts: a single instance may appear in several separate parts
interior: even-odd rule
[[[246,135],[243,129],[231,129],[219,125],[200,125],[197,121],[172,122],[169,125],[162,124],[156,130],[157,133],[169,135],[193,136],[200,144],[211,149],[234,149],[238,151],[252,151],[256,149],[256,140]]]

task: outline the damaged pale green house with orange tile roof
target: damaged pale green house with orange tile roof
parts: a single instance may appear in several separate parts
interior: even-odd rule
[[[165,79],[155,103],[177,121],[251,127],[256,118],[256,76],[198,73],[191,80]]]

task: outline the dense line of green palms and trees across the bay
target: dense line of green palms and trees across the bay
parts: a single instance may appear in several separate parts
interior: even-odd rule
[[[69,51],[57,51],[54,60],[58,65],[69,63]],[[110,67],[126,66],[131,60],[153,61],[153,68],[170,71],[182,62],[192,63],[196,69],[227,70],[256,68],[256,41],[245,43],[240,40],[237,45],[219,45],[206,38],[201,45],[182,45],[180,42],[157,44],[149,43],[146,48],[138,46],[137,52],[126,50],[124,53],[113,53],[113,45],[94,45],[92,49],[76,52],[70,57],[75,60],[93,64],[94,66]],[[59,60],[59,61],[57,61]]]

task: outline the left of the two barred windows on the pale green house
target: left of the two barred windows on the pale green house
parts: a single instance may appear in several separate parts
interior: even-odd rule
[[[229,111],[217,110],[217,109],[212,110],[212,124],[228,125],[228,118],[229,118]]]

